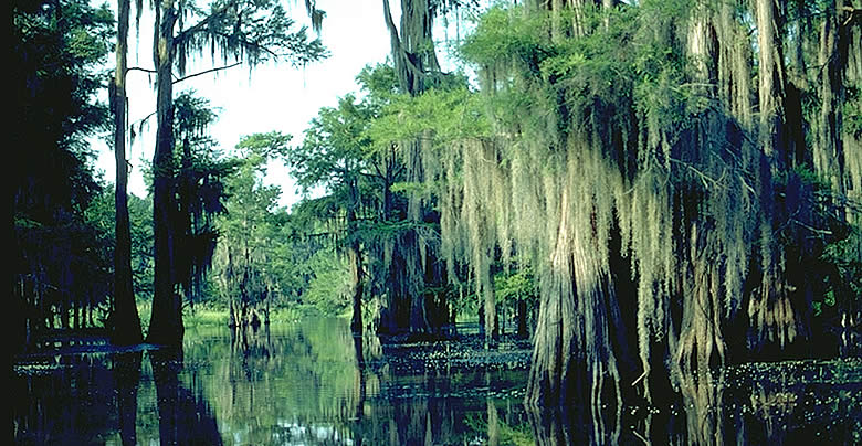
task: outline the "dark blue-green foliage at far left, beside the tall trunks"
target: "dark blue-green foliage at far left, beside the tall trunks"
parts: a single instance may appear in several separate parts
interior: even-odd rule
[[[32,333],[98,323],[101,315],[90,315],[108,304],[113,227],[88,138],[109,123],[98,91],[112,13],[84,0],[13,2],[9,11],[17,82],[11,268],[27,317],[21,327]],[[70,321],[73,309],[80,311]]]

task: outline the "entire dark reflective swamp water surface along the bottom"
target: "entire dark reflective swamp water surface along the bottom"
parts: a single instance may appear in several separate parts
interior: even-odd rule
[[[862,363],[730,369],[662,403],[526,411],[528,346],[381,347],[347,321],[232,336],[181,353],[27,358],[10,402],[21,445],[862,444]]]

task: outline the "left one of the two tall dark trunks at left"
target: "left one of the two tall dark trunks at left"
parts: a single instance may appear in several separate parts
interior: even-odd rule
[[[117,67],[114,73],[114,156],[117,168],[114,204],[116,246],[114,248],[114,317],[112,340],[118,344],[141,341],[140,318],[132,286],[132,233],[128,215],[128,169],[126,166],[126,55],[128,52],[129,0],[119,0],[117,17]]]

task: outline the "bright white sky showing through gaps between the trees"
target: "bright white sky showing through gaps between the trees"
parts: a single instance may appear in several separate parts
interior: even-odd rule
[[[398,2],[390,3],[395,9],[393,14],[398,14]],[[286,6],[297,24],[309,23],[302,1],[288,0]],[[386,61],[390,43],[383,22],[382,1],[317,0],[317,6],[326,11],[320,38],[330,53],[327,60],[305,68],[294,68],[287,63],[278,66],[257,66],[251,75],[248,66],[242,65],[218,74],[202,75],[175,86],[175,95],[193,88],[198,96],[209,99],[213,107],[221,109],[219,120],[211,128],[211,135],[225,151],[232,149],[242,136],[273,130],[293,135],[292,144],[302,142],[303,131],[320,107],[335,106],[338,97],[356,92],[358,86],[355,77],[365,65]],[[130,32],[129,67],[153,68],[151,22],[151,17],[147,17],[145,12],[138,52],[134,47],[135,31]],[[311,29],[308,31],[309,35],[314,35]],[[216,66],[221,65],[217,62]],[[196,70],[196,64],[192,64],[188,73],[213,67],[209,56],[204,56],[199,66],[200,70]],[[130,123],[155,112],[153,79],[143,72],[129,72],[127,88]],[[141,172],[153,157],[155,128],[154,117],[150,118],[150,131],[138,135],[126,152],[132,163],[129,192],[138,197],[147,194]],[[96,169],[103,171],[107,181],[113,182],[114,155],[104,145],[98,145],[97,150]],[[271,163],[264,181],[282,187],[280,204],[291,205],[299,199],[286,167]]]

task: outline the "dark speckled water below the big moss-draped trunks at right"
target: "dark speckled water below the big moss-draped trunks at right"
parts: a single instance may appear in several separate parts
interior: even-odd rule
[[[800,370],[758,364],[725,372],[683,375],[679,392],[663,395],[660,406],[626,406],[621,416],[609,407],[574,405],[528,411],[537,445],[785,445],[862,444],[862,363],[800,365],[837,380],[812,379]],[[585,401],[588,401],[585,399]],[[488,435],[491,437],[491,435]]]

